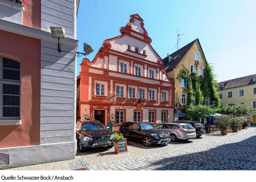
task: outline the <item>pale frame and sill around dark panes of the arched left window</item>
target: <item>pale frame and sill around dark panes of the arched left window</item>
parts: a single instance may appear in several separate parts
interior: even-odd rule
[[[21,124],[20,116],[21,116],[21,62],[14,60],[20,64],[20,80],[7,80],[3,79],[3,57],[8,58],[6,56],[0,55],[0,125],[16,125]],[[11,68],[10,68],[11,69]],[[16,69],[14,69],[16,70]],[[19,107],[19,117],[2,117],[3,114],[3,85],[2,84],[10,84],[10,85],[19,85],[19,106],[13,106],[13,107]],[[18,95],[17,95],[18,96]]]

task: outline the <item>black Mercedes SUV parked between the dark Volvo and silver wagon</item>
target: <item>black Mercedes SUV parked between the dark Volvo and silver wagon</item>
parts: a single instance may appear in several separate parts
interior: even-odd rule
[[[119,133],[125,138],[142,141],[145,146],[165,144],[170,141],[168,132],[161,132],[149,122],[124,122],[119,128]]]

